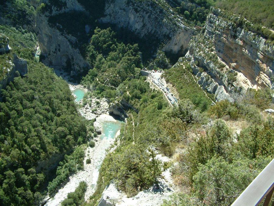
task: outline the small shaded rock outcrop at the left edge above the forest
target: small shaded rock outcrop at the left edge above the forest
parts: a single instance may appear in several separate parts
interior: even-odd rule
[[[10,68],[6,68],[7,73],[4,79],[0,81],[0,99],[2,98],[1,89],[4,89],[10,81],[13,81],[13,79],[16,77],[16,71],[18,71],[21,75],[25,75],[26,73],[28,73],[26,60],[19,59],[16,54],[13,55],[13,61],[10,61],[9,64]]]

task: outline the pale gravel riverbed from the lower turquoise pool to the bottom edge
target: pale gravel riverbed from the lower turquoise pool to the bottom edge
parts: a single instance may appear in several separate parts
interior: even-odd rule
[[[96,119],[94,125],[100,127],[102,130],[106,122],[118,123],[117,120],[115,120],[112,116],[102,114]],[[102,136],[104,136],[104,132],[102,132],[102,135],[94,138],[95,146],[93,148],[87,147],[85,150],[84,169],[69,177],[68,183],[60,190],[58,190],[58,193],[56,193],[55,196],[51,198],[46,205],[61,205],[61,202],[67,197],[68,193],[73,192],[81,181],[85,181],[87,183],[87,190],[85,193],[85,200],[87,201],[89,197],[95,192],[96,183],[99,176],[99,169],[107,154],[106,151],[110,149],[111,145],[115,141],[115,138],[119,134],[120,130],[114,134],[113,138],[102,138]],[[90,164],[86,164],[87,159],[91,160]]]

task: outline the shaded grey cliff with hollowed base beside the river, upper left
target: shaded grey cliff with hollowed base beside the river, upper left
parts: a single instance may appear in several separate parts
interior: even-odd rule
[[[49,3],[47,2],[47,4]],[[52,6],[51,15],[70,10],[84,12],[83,7],[76,0],[67,0],[66,6],[61,10]],[[49,16],[48,13],[37,13],[36,16],[37,39],[41,49],[40,60],[42,59],[43,63],[49,67],[72,69],[76,73],[81,72],[83,67],[89,67],[88,63],[81,56],[79,49],[74,48],[72,45],[77,45],[77,39],[68,34],[61,34],[56,28],[52,28],[48,23],[47,16]]]

